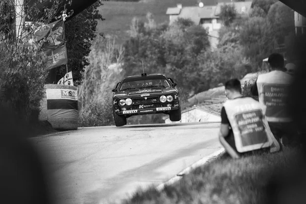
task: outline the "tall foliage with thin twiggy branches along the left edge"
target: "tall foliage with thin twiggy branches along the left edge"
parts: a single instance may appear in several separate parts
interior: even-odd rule
[[[47,75],[46,58],[40,52],[44,41],[35,42],[34,32],[40,24],[54,18],[59,5],[54,3],[50,9],[46,8],[45,16],[33,18],[31,26],[17,30],[22,21],[18,20],[21,13],[15,11],[14,4],[13,0],[0,3],[0,102],[9,104],[20,118],[33,121],[38,119]]]

